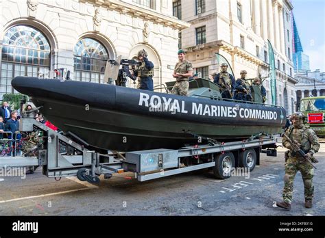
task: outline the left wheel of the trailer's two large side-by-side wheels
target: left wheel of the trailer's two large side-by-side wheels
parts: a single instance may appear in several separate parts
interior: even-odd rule
[[[232,168],[234,168],[234,154],[231,152],[220,154],[215,158],[213,174],[220,179],[230,178]]]

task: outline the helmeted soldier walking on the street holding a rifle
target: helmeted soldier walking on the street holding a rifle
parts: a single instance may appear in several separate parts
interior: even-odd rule
[[[317,163],[317,159],[313,157],[320,149],[318,137],[312,129],[304,126],[304,114],[300,111],[292,114],[291,120],[293,127],[289,127],[285,134],[296,143],[306,153],[305,158]],[[286,153],[285,162],[285,188],[283,189],[283,202],[276,202],[278,207],[291,209],[291,199],[293,191],[293,181],[298,171],[301,172],[302,181],[304,182],[304,199],[306,208],[313,206],[313,167],[298,153],[293,151],[291,144],[285,137],[282,139],[282,145],[289,149]]]

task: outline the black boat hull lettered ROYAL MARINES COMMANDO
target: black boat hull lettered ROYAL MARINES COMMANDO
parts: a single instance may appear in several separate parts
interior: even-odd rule
[[[12,85],[31,96],[37,107],[43,106],[40,112],[60,130],[77,135],[94,148],[106,150],[180,148],[184,144],[196,144],[197,138],[184,130],[220,142],[243,140],[257,133],[280,133],[285,125],[285,110],[280,107],[265,110],[263,105],[78,81],[16,77]],[[253,107],[256,111],[269,111],[268,118],[276,119],[245,118],[245,113]]]

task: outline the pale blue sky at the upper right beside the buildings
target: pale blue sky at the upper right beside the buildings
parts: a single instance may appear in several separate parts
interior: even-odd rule
[[[310,68],[325,72],[325,0],[291,0],[291,3]]]

